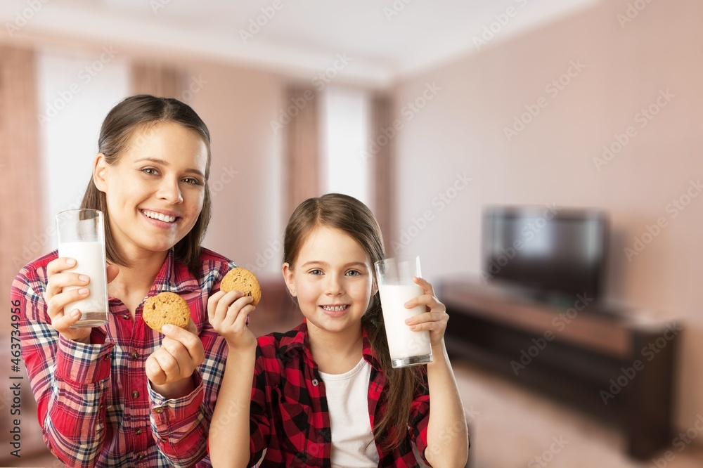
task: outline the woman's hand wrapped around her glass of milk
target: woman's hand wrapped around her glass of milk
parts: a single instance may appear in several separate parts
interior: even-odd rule
[[[71,325],[81,318],[78,309],[64,310],[68,304],[79,299],[85,299],[90,293],[88,289],[90,278],[87,275],[73,272],[62,273],[64,270],[75,266],[76,260],[65,256],[49,262],[46,266],[46,275],[49,278],[49,282],[46,284],[44,302],[46,303],[49,318],[51,318],[51,325],[57,332],[65,339],[89,344],[91,328],[70,328]],[[117,273],[120,272],[120,268],[116,265],[109,265],[107,268],[108,282],[111,282],[115,279]],[[71,286],[77,287],[77,289],[64,291],[65,287]]]

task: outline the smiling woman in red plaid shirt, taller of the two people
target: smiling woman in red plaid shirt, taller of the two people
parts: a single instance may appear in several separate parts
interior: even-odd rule
[[[200,247],[210,218],[207,126],[175,99],[132,96],[110,110],[82,207],[105,216],[109,322],[70,328],[91,278],[57,252],[12,285],[22,358],[51,453],[76,467],[191,467],[205,456],[226,343],[207,299],[233,263]],[[77,289],[67,289],[77,286]],[[146,297],[180,294],[188,330],[151,330]],[[209,466],[203,460],[202,466]]]

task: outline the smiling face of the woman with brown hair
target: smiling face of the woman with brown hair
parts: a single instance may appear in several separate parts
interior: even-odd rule
[[[105,194],[112,247],[120,259],[138,256],[143,249],[163,252],[181,239],[187,244],[205,201],[205,143],[173,122],[153,124],[144,132],[148,137],[143,144],[129,145],[112,163],[101,153],[93,169],[94,185]],[[169,160],[153,155],[168,155]],[[190,242],[200,245],[198,238]],[[129,266],[129,260],[115,261]]]

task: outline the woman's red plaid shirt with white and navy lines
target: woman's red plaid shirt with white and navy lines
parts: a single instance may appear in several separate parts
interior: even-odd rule
[[[234,264],[202,250],[193,277],[169,252],[148,296],[176,292],[186,299],[205,348],[193,374],[195,390],[165,400],[148,385],[144,363],[162,334],[110,297],[109,323],[93,328],[91,344],[60,337],[46,312],[46,265],[56,252],[22,268],[11,298],[20,301],[22,358],[37,399],[44,441],[66,464],[77,467],[210,466],[205,441],[224,373],[226,342],[207,320],[207,298]]]

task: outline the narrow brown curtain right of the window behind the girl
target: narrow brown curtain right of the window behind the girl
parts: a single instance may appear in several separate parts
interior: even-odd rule
[[[394,138],[387,129],[393,126],[393,101],[389,96],[375,95],[371,102],[370,136],[375,142],[374,152],[368,156],[371,169],[373,214],[383,233],[386,252],[391,256],[390,240],[395,232],[395,160]],[[384,133],[383,130],[386,129]],[[391,135],[389,138],[388,135]]]

